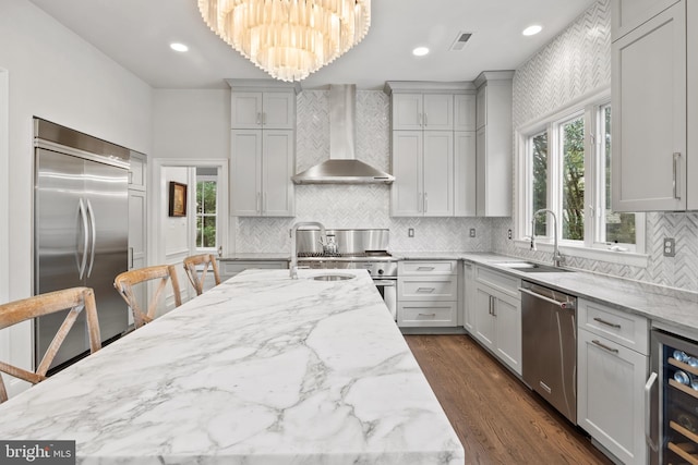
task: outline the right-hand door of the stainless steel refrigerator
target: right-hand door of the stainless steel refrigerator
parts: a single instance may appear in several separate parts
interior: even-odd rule
[[[85,161],[85,203],[89,223],[85,285],[95,290],[101,340],[125,331],[129,308],[113,287],[117,274],[128,270],[128,171]]]

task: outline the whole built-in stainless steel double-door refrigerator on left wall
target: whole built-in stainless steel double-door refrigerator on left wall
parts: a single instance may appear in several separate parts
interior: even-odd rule
[[[113,279],[128,269],[129,150],[35,119],[34,293],[94,289],[103,343],[128,327]],[[35,365],[65,317],[35,319]],[[51,368],[88,353],[84,313]]]

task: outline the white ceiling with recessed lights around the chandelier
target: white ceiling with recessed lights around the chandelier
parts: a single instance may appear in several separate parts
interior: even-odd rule
[[[225,78],[268,77],[208,29],[196,0],[31,1],[155,88],[225,88]],[[481,71],[515,70],[594,1],[373,0],[363,41],[301,86],[378,89],[386,81],[472,81]],[[522,36],[531,24],[543,32]],[[470,41],[449,51],[460,32],[472,33]],[[172,41],[190,51],[172,51]],[[432,53],[414,58],[417,46]]]

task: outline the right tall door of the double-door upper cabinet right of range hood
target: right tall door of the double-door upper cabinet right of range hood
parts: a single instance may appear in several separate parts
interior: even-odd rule
[[[454,134],[424,131],[424,216],[454,215]],[[397,174],[395,174],[397,179]]]

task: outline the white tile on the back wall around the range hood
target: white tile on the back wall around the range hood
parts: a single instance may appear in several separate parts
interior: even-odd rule
[[[329,158],[328,90],[298,96],[297,172]],[[381,90],[357,91],[357,158],[390,169],[390,99]],[[296,221],[327,228],[387,228],[393,250],[489,250],[490,221],[478,218],[390,218],[390,187],[375,185],[298,185],[296,218],[233,219],[236,250],[286,252]],[[413,228],[414,237],[407,236]],[[468,232],[476,229],[476,237]]]

